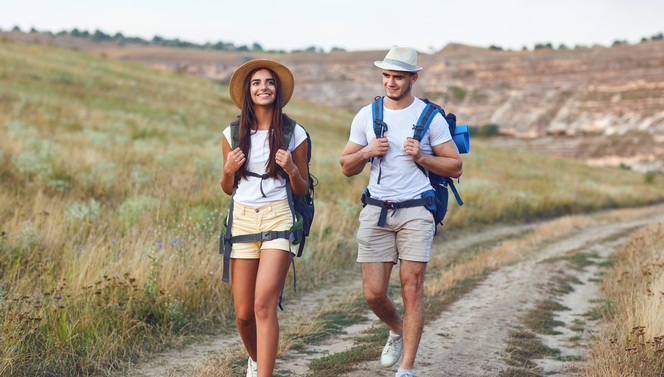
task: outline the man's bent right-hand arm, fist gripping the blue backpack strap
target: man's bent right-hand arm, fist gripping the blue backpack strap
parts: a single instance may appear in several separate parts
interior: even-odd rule
[[[423,168],[445,177],[459,178],[463,173],[463,161],[454,141],[448,140],[432,147],[435,155],[420,152],[420,143],[407,138],[404,150]]]

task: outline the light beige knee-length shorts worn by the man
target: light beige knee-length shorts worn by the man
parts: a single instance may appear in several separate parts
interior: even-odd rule
[[[360,212],[357,230],[358,262],[399,259],[429,262],[435,233],[433,215],[424,206],[388,210],[384,227],[378,226],[381,207],[367,205]]]

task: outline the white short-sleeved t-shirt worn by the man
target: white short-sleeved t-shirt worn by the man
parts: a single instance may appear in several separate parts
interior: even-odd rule
[[[403,145],[407,137],[413,137],[413,126],[426,107],[424,101],[415,98],[405,109],[390,110],[383,106],[383,122],[387,124],[385,137],[390,142],[387,153],[381,158],[374,158],[371,164],[369,192],[371,197],[379,200],[400,202],[422,197],[422,193],[432,190],[429,178],[417,167],[407,154]],[[373,130],[373,112],[371,104],[363,107],[353,119],[350,127],[350,141],[358,145],[368,145],[376,137]],[[451,140],[447,121],[436,114],[429,125],[422,141],[422,153],[433,154],[431,146]],[[380,184],[378,184],[379,164],[381,168]]]

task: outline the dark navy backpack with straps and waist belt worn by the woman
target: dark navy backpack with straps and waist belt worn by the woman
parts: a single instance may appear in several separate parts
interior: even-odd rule
[[[290,144],[291,137],[293,136],[293,132],[295,130],[295,125],[297,122],[293,119],[288,119],[289,122],[284,129],[284,135],[283,135],[283,140],[284,140],[284,145],[287,147]],[[230,124],[231,127],[231,148],[235,148],[238,143],[239,139],[239,120],[236,120]],[[304,129],[304,127],[303,127]],[[311,223],[313,222],[314,219],[314,186],[317,185],[318,180],[316,177],[314,177],[311,174],[311,171],[309,170],[309,163],[311,161],[311,137],[309,136],[309,133],[305,130],[305,134],[307,135],[307,171],[309,172],[309,187],[307,189],[307,193],[301,197],[298,198],[297,196],[293,195],[293,191],[291,189],[290,185],[290,180],[288,179],[288,176],[286,176],[286,193],[287,193],[287,198],[288,198],[288,206],[291,209],[291,213],[293,215],[293,227],[290,230],[284,230],[284,231],[266,231],[262,233],[255,233],[255,234],[245,234],[245,235],[240,235],[240,236],[232,236],[231,235],[231,228],[233,224],[233,198],[235,197],[235,191],[237,190],[238,183],[240,181],[240,177],[235,173],[235,182],[233,183],[233,193],[231,195],[231,203],[230,203],[230,209],[228,210],[228,217],[226,218],[226,221],[222,225],[221,229],[221,235],[219,237],[219,254],[224,255],[224,269],[223,269],[223,274],[222,274],[222,281],[228,282],[228,275],[229,275],[229,265],[230,265],[230,255],[231,255],[231,249],[233,247],[233,243],[235,242],[253,242],[253,241],[267,241],[267,240],[272,240],[272,239],[277,239],[277,238],[286,238],[290,241],[291,244],[298,245],[297,249],[297,256],[300,257],[302,256],[302,252],[304,251],[304,245],[307,236],[309,236],[309,230],[311,229]],[[247,175],[252,176],[252,177],[258,177],[261,179],[266,179],[269,178],[270,176],[268,174],[256,174],[253,172],[247,172]],[[316,180],[316,183],[314,183],[314,180]],[[261,188],[262,190],[262,188]],[[295,260],[293,259],[293,253],[290,253],[291,255],[291,262],[293,264],[293,289],[295,290]],[[283,292],[283,287],[282,287],[282,292]],[[279,307],[281,308],[281,294],[279,295]]]

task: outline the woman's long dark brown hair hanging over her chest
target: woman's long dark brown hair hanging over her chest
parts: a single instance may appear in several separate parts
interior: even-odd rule
[[[275,156],[277,155],[277,150],[280,148],[287,149],[287,145],[284,144],[283,130],[284,127],[288,124],[289,120],[286,114],[281,111],[281,83],[279,81],[279,76],[274,73],[273,70],[269,68],[259,67],[251,71],[247,77],[244,79],[243,85],[243,103],[242,111],[240,112],[240,129],[238,135],[238,146],[247,157],[249,161],[249,150],[251,149],[251,133],[252,127],[256,124],[256,113],[254,111],[254,101],[251,99],[250,84],[251,78],[254,74],[262,69],[270,72],[274,78],[274,83],[277,88],[277,93],[272,103],[272,121],[270,122],[270,132],[268,133],[268,140],[270,146],[270,156],[267,160],[266,172],[271,178],[279,178],[279,172],[281,167],[277,165]],[[247,177],[247,162],[240,166],[238,173],[242,178]],[[259,173],[259,172],[254,172]]]

